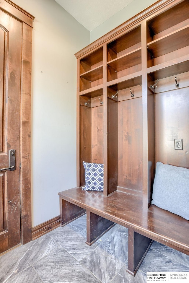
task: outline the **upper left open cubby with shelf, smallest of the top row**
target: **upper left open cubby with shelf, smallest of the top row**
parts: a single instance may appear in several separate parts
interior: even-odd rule
[[[80,60],[80,91],[103,84],[103,48]]]

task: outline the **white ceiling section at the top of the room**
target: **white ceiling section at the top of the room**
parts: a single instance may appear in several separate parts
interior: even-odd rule
[[[92,31],[134,0],[55,0],[80,24]]]

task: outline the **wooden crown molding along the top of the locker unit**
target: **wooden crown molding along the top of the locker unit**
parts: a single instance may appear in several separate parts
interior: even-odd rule
[[[111,30],[110,32],[103,35],[101,38],[95,40],[91,44],[87,45],[82,50],[75,53],[76,58],[79,58],[81,56],[84,56],[86,53],[92,51],[93,48],[97,49],[100,45],[105,43],[106,41],[111,40],[113,37],[117,37],[121,32],[124,32],[128,28],[131,28],[133,25],[136,25],[137,23],[141,22],[142,20],[146,19],[147,17],[151,16],[151,14],[154,14],[158,12],[160,9],[164,8],[165,6],[171,4],[175,0],[159,0],[156,3],[152,4],[148,8],[141,11],[139,14],[136,14],[134,17],[128,19],[123,24],[119,25],[115,29]],[[175,4],[177,4],[178,1],[176,1]]]

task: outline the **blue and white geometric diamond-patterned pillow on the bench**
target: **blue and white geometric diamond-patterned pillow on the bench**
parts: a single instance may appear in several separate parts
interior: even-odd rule
[[[83,162],[85,168],[85,191],[104,190],[104,164]]]

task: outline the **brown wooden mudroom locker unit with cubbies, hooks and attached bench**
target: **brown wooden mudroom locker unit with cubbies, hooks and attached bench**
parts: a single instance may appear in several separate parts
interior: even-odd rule
[[[151,205],[157,161],[189,169],[189,0],[158,1],[75,55],[77,188],[59,193],[61,225],[87,213],[89,245],[127,227],[133,276],[153,240],[189,255],[189,221]],[[83,161],[104,164],[104,192],[82,190]]]

